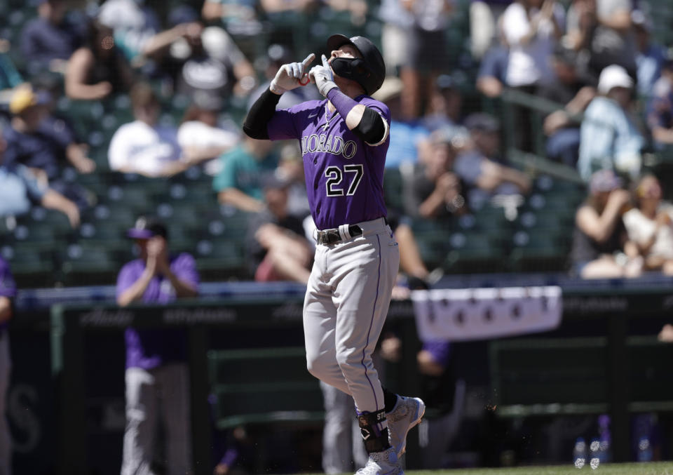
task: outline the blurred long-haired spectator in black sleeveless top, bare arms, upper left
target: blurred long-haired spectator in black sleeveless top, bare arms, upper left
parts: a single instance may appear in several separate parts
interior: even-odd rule
[[[128,91],[133,74],[114,41],[112,29],[97,20],[89,23],[86,44],[72,54],[65,71],[69,98],[101,100]]]

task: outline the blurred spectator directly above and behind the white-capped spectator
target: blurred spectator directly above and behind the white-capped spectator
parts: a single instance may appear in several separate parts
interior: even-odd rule
[[[594,77],[609,65],[620,65],[636,77],[632,9],[631,0],[573,0],[568,10],[568,44],[582,52],[583,68]]]

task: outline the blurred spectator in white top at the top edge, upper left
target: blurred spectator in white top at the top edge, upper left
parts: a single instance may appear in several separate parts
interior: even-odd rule
[[[128,61],[142,54],[161,24],[144,0],[105,0],[97,16],[101,25],[112,29],[114,41]]]

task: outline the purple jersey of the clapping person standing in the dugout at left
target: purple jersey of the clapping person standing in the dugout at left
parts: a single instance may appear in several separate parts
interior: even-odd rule
[[[117,296],[132,286],[145,269],[142,259],[132,260],[124,265],[117,277]],[[170,258],[170,270],[178,279],[198,286],[198,272],[194,258],[182,253]],[[147,290],[142,295],[145,303],[167,304],[175,301],[175,289],[170,280],[164,276],[154,276]],[[146,329],[137,330],[127,328],[125,332],[126,342],[126,368],[143,368],[149,370],[161,366],[170,361],[186,360],[186,341],[182,330],[177,329]]]

